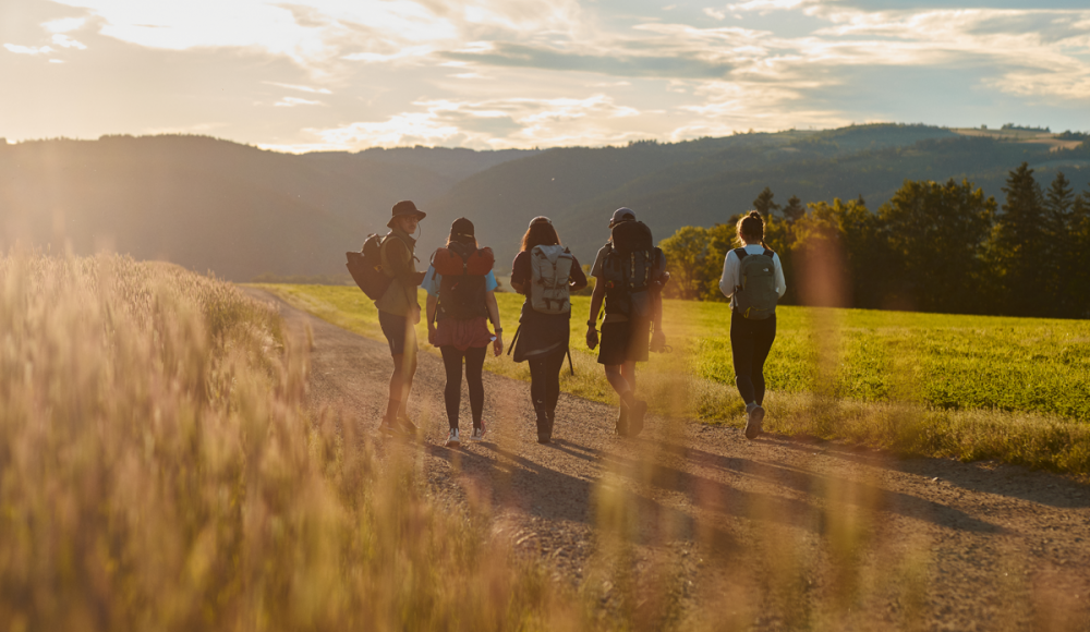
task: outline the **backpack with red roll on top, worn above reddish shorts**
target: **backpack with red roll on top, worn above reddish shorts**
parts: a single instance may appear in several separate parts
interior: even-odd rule
[[[443,276],[439,282],[439,304],[436,319],[468,320],[488,316],[485,304],[485,276],[492,271],[496,258],[492,248],[474,248],[468,244],[451,243],[432,255],[432,266]]]

